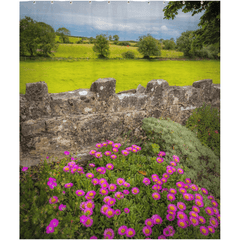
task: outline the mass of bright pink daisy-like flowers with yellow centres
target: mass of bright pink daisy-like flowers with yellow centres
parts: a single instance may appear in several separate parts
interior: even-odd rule
[[[107,142],[104,143],[98,143],[96,144],[96,147],[98,149],[102,147],[107,147],[108,145],[111,145],[112,150],[111,151],[105,151],[104,155],[105,156],[110,156],[112,159],[116,158],[117,156],[112,153],[118,153],[119,152],[119,147],[121,146],[120,143],[114,143],[113,141],[107,140]],[[141,148],[132,145],[131,147],[126,148],[125,150],[122,150],[121,153],[124,156],[127,156],[130,152],[137,152],[140,151]],[[69,152],[64,152],[65,155],[69,155]],[[96,158],[101,158],[102,153],[97,152],[96,150],[91,150],[90,151],[91,155],[94,155]],[[159,152],[158,157],[157,157],[157,162],[162,163],[164,161],[163,157],[166,155],[165,152]],[[115,156],[115,157],[114,157]],[[202,193],[203,195],[208,195],[208,190],[205,188],[199,188],[197,185],[193,184],[191,182],[190,178],[186,178],[185,182],[183,181],[178,181],[176,183],[176,187],[172,188],[164,188],[164,184],[167,183],[168,179],[171,177],[173,174],[183,174],[184,171],[181,168],[175,168],[177,167],[177,163],[179,163],[179,157],[178,156],[173,156],[173,161],[170,162],[170,165],[166,167],[166,172],[162,174],[162,176],[158,176],[157,174],[152,174],[151,177],[143,178],[142,183],[145,186],[148,186],[151,184],[151,181],[153,182],[152,186],[152,198],[154,200],[159,200],[161,199],[160,193],[163,193],[164,191],[167,192],[167,200],[170,201],[170,203],[167,206],[167,215],[166,219],[167,221],[174,221],[176,219],[177,225],[179,228],[187,228],[189,226],[200,226],[200,232],[207,236],[209,233],[214,233],[215,229],[219,225],[220,221],[220,214],[219,210],[217,209],[218,207],[218,202],[215,201],[213,196],[208,196],[208,199],[211,200],[212,207],[204,207],[203,203],[203,196],[200,194]],[[94,163],[89,164],[90,168],[96,167]],[[105,174],[106,169],[108,170],[113,170],[114,165],[112,163],[108,163],[106,167],[98,167],[96,168],[96,171],[99,174]],[[27,168],[23,168],[22,171],[26,171]],[[67,166],[63,167],[64,172],[69,172],[71,174],[74,174],[75,172],[78,172],[79,174],[85,174],[84,169],[80,166],[78,166],[74,162],[74,158],[71,158],[71,161],[67,164]],[[176,173],[175,173],[176,172]],[[124,178],[117,178],[115,183],[108,183],[105,178],[96,178],[94,177],[93,173],[86,173],[86,178],[91,179],[91,183],[96,186],[99,185],[99,194],[104,196],[103,198],[103,205],[100,208],[100,212],[105,215],[108,219],[113,218],[115,215],[121,215],[121,214],[128,214],[130,212],[129,208],[124,208],[123,212],[121,213],[120,209],[113,209],[114,205],[118,200],[123,199],[126,197],[126,195],[130,194],[130,192],[133,195],[139,194],[140,190],[137,187],[132,187],[131,191],[128,191],[127,189],[124,189],[122,192],[119,191],[117,188],[122,189],[122,187],[130,187],[130,184],[125,181]],[[50,189],[54,189],[54,187],[57,186],[57,181],[55,178],[49,178],[48,180],[48,186]],[[65,188],[71,188],[73,187],[73,183],[65,183],[64,184]],[[129,189],[130,190],[130,189]],[[74,191],[74,190],[73,190]],[[191,191],[189,193],[188,191]],[[113,192],[114,197],[108,196],[108,193]],[[176,201],[176,195],[177,193],[181,193],[182,195],[182,200],[181,201]],[[82,201],[80,203],[80,210],[82,215],[80,216],[80,223],[82,223],[85,227],[91,227],[93,224],[93,210],[95,208],[95,203],[94,203],[94,197],[97,194],[94,190],[90,190],[88,192],[84,192],[83,190],[75,190],[75,194],[78,197],[84,197],[86,200]],[[61,198],[59,198],[61,199]],[[50,204],[57,204],[59,202],[59,199],[57,196],[52,196],[49,199]],[[178,198],[179,199],[179,196]],[[186,211],[187,206],[185,203],[191,202],[194,203],[192,206],[192,209],[189,211]],[[55,208],[55,206],[54,206]],[[201,208],[203,208],[205,213],[209,216],[209,219],[205,219],[203,216],[201,216]],[[66,205],[60,204],[59,205],[59,210],[64,211],[66,209]],[[189,208],[188,208],[189,209]],[[189,213],[188,213],[189,212]],[[58,215],[58,214],[57,214]],[[166,220],[165,220],[166,221]],[[203,226],[207,221],[209,221],[209,226]],[[157,225],[157,224],[162,224],[163,219],[159,215],[153,215],[151,218],[147,218],[145,220],[145,226],[142,228],[142,232],[146,237],[149,237],[152,234],[152,228]],[[53,233],[54,228],[58,226],[58,220],[57,219],[52,219],[50,224],[46,228],[46,233]],[[132,238],[135,236],[136,232],[133,228],[128,228],[127,226],[123,225],[118,228],[118,234],[123,236],[125,235],[126,237]],[[158,238],[159,239],[166,239],[166,237],[173,237],[175,234],[175,229],[173,226],[167,226],[163,228],[163,234],[160,235]],[[106,239],[113,239],[115,236],[114,230],[111,228],[105,229],[103,233],[104,238]],[[96,236],[92,236],[90,239],[96,239]]]

